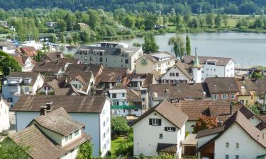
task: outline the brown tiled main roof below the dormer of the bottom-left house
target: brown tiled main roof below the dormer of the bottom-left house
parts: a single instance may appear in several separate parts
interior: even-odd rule
[[[29,150],[26,153],[34,159],[60,158],[65,153],[72,151],[73,148],[91,139],[90,136],[82,132],[82,136],[79,139],[62,147],[54,141],[51,141],[35,125],[28,126],[22,131],[11,134],[9,138],[19,146],[28,147]]]

